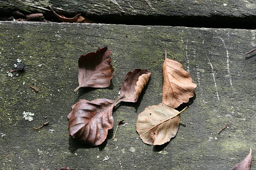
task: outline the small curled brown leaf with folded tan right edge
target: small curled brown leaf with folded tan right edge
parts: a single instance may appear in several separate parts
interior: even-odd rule
[[[129,71],[120,90],[120,95],[125,95],[122,99],[124,102],[137,102],[143,88],[148,83],[151,72],[148,70],[137,68]]]

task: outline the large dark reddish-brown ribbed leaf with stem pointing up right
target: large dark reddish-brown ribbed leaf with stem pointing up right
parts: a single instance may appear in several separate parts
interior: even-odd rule
[[[69,118],[69,135],[82,143],[100,145],[106,139],[108,130],[113,128],[113,107],[117,100],[78,100],[72,106]]]

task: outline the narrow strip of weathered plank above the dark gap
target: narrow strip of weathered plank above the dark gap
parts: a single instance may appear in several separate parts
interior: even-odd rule
[[[2,11],[45,13],[49,11],[48,5],[56,7],[62,13],[101,16],[256,16],[255,0],[0,0]]]

